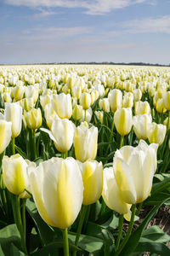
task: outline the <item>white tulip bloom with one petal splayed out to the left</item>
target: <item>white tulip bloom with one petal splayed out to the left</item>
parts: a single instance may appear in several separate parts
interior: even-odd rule
[[[54,119],[51,126],[51,131],[48,129],[41,129],[48,133],[49,137],[54,141],[55,148],[59,152],[67,152],[71,149],[75,125],[68,119]]]

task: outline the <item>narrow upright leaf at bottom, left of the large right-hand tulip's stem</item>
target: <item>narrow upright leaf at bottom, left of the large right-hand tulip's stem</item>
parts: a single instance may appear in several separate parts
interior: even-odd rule
[[[102,230],[102,235],[104,238],[104,255],[111,256],[114,250],[115,239],[109,230]]]

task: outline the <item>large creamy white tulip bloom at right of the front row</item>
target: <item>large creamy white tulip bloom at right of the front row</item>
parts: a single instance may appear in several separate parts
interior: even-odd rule
[[[139,146],[135,148],[124,146],[116,150],[113,170],[122,200],[127,204],[140,203],[150,195],[157,147],[158,144],[152,143],[148,146],[140,140]]]

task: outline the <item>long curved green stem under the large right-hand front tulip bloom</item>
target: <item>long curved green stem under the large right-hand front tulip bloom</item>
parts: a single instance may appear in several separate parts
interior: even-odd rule
[[[132,233],[132,230],[133,230],[133,223],[134,223],[134,217],[135,217],[135,210],[136,210],[136,205],[133,205],[132,207],[132,215],[131,215],[131,219],[130,219],[130,223],[129,223],[129,226],[128,226],[128,230],[127,230],[127,234],[126,236],[124,237],[121,245],[118,247],[116,253],[114,256],[117,256],[119,255],[121,252],[122,252],[122,249],[125,247],[125,245],[127,244],[127,241]]]

